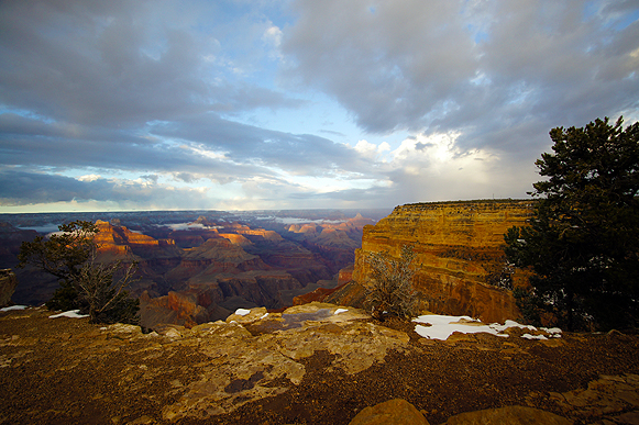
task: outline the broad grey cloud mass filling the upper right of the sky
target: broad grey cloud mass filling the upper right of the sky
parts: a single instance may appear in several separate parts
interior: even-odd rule
[[[287,75],[333,96],[371,132],[462,131],[469,147],[539,148],[551,126],[638,107],[637,2],[299,0],[295,9]],[[518,126],[542,136],[500,137]]]

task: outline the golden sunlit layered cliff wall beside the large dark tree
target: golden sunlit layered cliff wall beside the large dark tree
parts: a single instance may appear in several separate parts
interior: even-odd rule
[[[414,247],[414,288],[422,311],[470,315],[485,322],[520,316],[504,279],[504,233],[526,225],[532,201],[494,200],[418,203],[397,206],[376,225],[365,226],[355,253],[353,280],[366,286],[368,253],[399,257]]]

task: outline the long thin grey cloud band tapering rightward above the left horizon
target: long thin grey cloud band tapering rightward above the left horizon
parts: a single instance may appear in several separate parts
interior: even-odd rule
[[[206,157],[186,145],[159,138],[136,137],[118,130],[42,123],[37,120],[2,120],[0,115],[0,157],[11,166],[42,167],[59,171],[90,168],[129,172],[167,172],[206,176],[229,182],[246,176],[271,176],[263,166]],[[7,121],[29,125],[11,127]],[[184,180],[184,179],[183,179]]]

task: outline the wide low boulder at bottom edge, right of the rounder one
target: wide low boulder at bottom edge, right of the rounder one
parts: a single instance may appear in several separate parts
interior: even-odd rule
[[[507,406],[461,413],[449,417],[447,425],[570,425],[572,421],[533,407]]]

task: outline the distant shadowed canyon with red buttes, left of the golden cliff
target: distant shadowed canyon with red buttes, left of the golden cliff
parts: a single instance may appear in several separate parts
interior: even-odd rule
[[[340,269],[354,261],[363,226],[376,221],[334,211],[169,216],[169,223],[154,213],[145,220],[129,214],[95,220],[97,261],[137,265],[129,292],[140,300],[141,324],[147,328],[192,327],[223,320],[238,307],[282,309],[319,286],[337,286]],[[21,242],[36,235],[5,223],[0,266],[13,268]],[[15,271],[20,284],[13,302],[42,304],[57,288],[55,279],[33,268]]]

